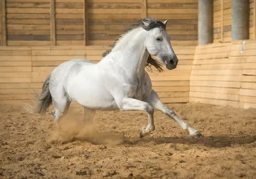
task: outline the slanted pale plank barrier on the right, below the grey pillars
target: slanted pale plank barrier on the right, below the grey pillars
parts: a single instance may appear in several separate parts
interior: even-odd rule
[[[256,41],[196,47],[190,77],[190,102],[256,107]]]

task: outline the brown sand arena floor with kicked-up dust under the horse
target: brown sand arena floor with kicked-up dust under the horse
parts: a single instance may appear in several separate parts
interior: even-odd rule
[[[189,139],[159,111],[140,139],[141,111],[98,111],[93,129],[73,105],[58,131],[50,113],[1,104],[0,178],[256,178],[256,109],[169,107],[204,137]]]

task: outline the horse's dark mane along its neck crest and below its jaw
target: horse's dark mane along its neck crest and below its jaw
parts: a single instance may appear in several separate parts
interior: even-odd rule
[[[145,23],[143,23],[145,22]],[[145,26],[145,24],[148,24],[147,26]],[[131,31],[132,29],[138,28],[138,27],[143,27],[143,29],[145,29],[146,31],[150,31],[150,29],[154,29],[156,27],[159,27],[161,29],[166,29],[166,26],[163,24],[163,22],[154,19],[152,17],[147,17],[145,19],[139,19],[138,22],[134,23],[134,24],[130,24],[130,27],[125,29],[125,33],[127,33],[128,31]],[[109,49],[108,51],[104,52],[102,54],[103,57],[107,56],[111,50],[113,49],[113,47],[115,47],[116,43],[125,35],[125,33],[123,35],[120,35],[116,38],[115,42],[113,43],[113,45],[109,45],[109,47],[111,47],[111,49]],[[155,66],[155,68],[159,71],[159,72],[163,72],[163,68],[161,66],[161,63],[159,63],[156,59],[154,59],[151,55],[148,56],[147,59],[147,63],[145,65],[145,67],[149,67],[149,70],[152,71],[151,66]]]

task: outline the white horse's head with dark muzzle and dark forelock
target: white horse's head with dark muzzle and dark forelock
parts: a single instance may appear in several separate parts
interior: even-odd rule
[[[145,46],[150,55],[161,59],[168,70],[176,68],[179,59],[172,49],[170,35],[166,32],[166,24],[164,22],[152,21],[152,19],[143,19],[143,29],[148,31],[145,40]]]

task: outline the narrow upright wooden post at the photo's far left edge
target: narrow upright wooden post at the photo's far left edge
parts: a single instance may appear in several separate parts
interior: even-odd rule
[[[6,46],[6,20],[5,20],[5,0],[0,3],[1,8],[1,45]]]

